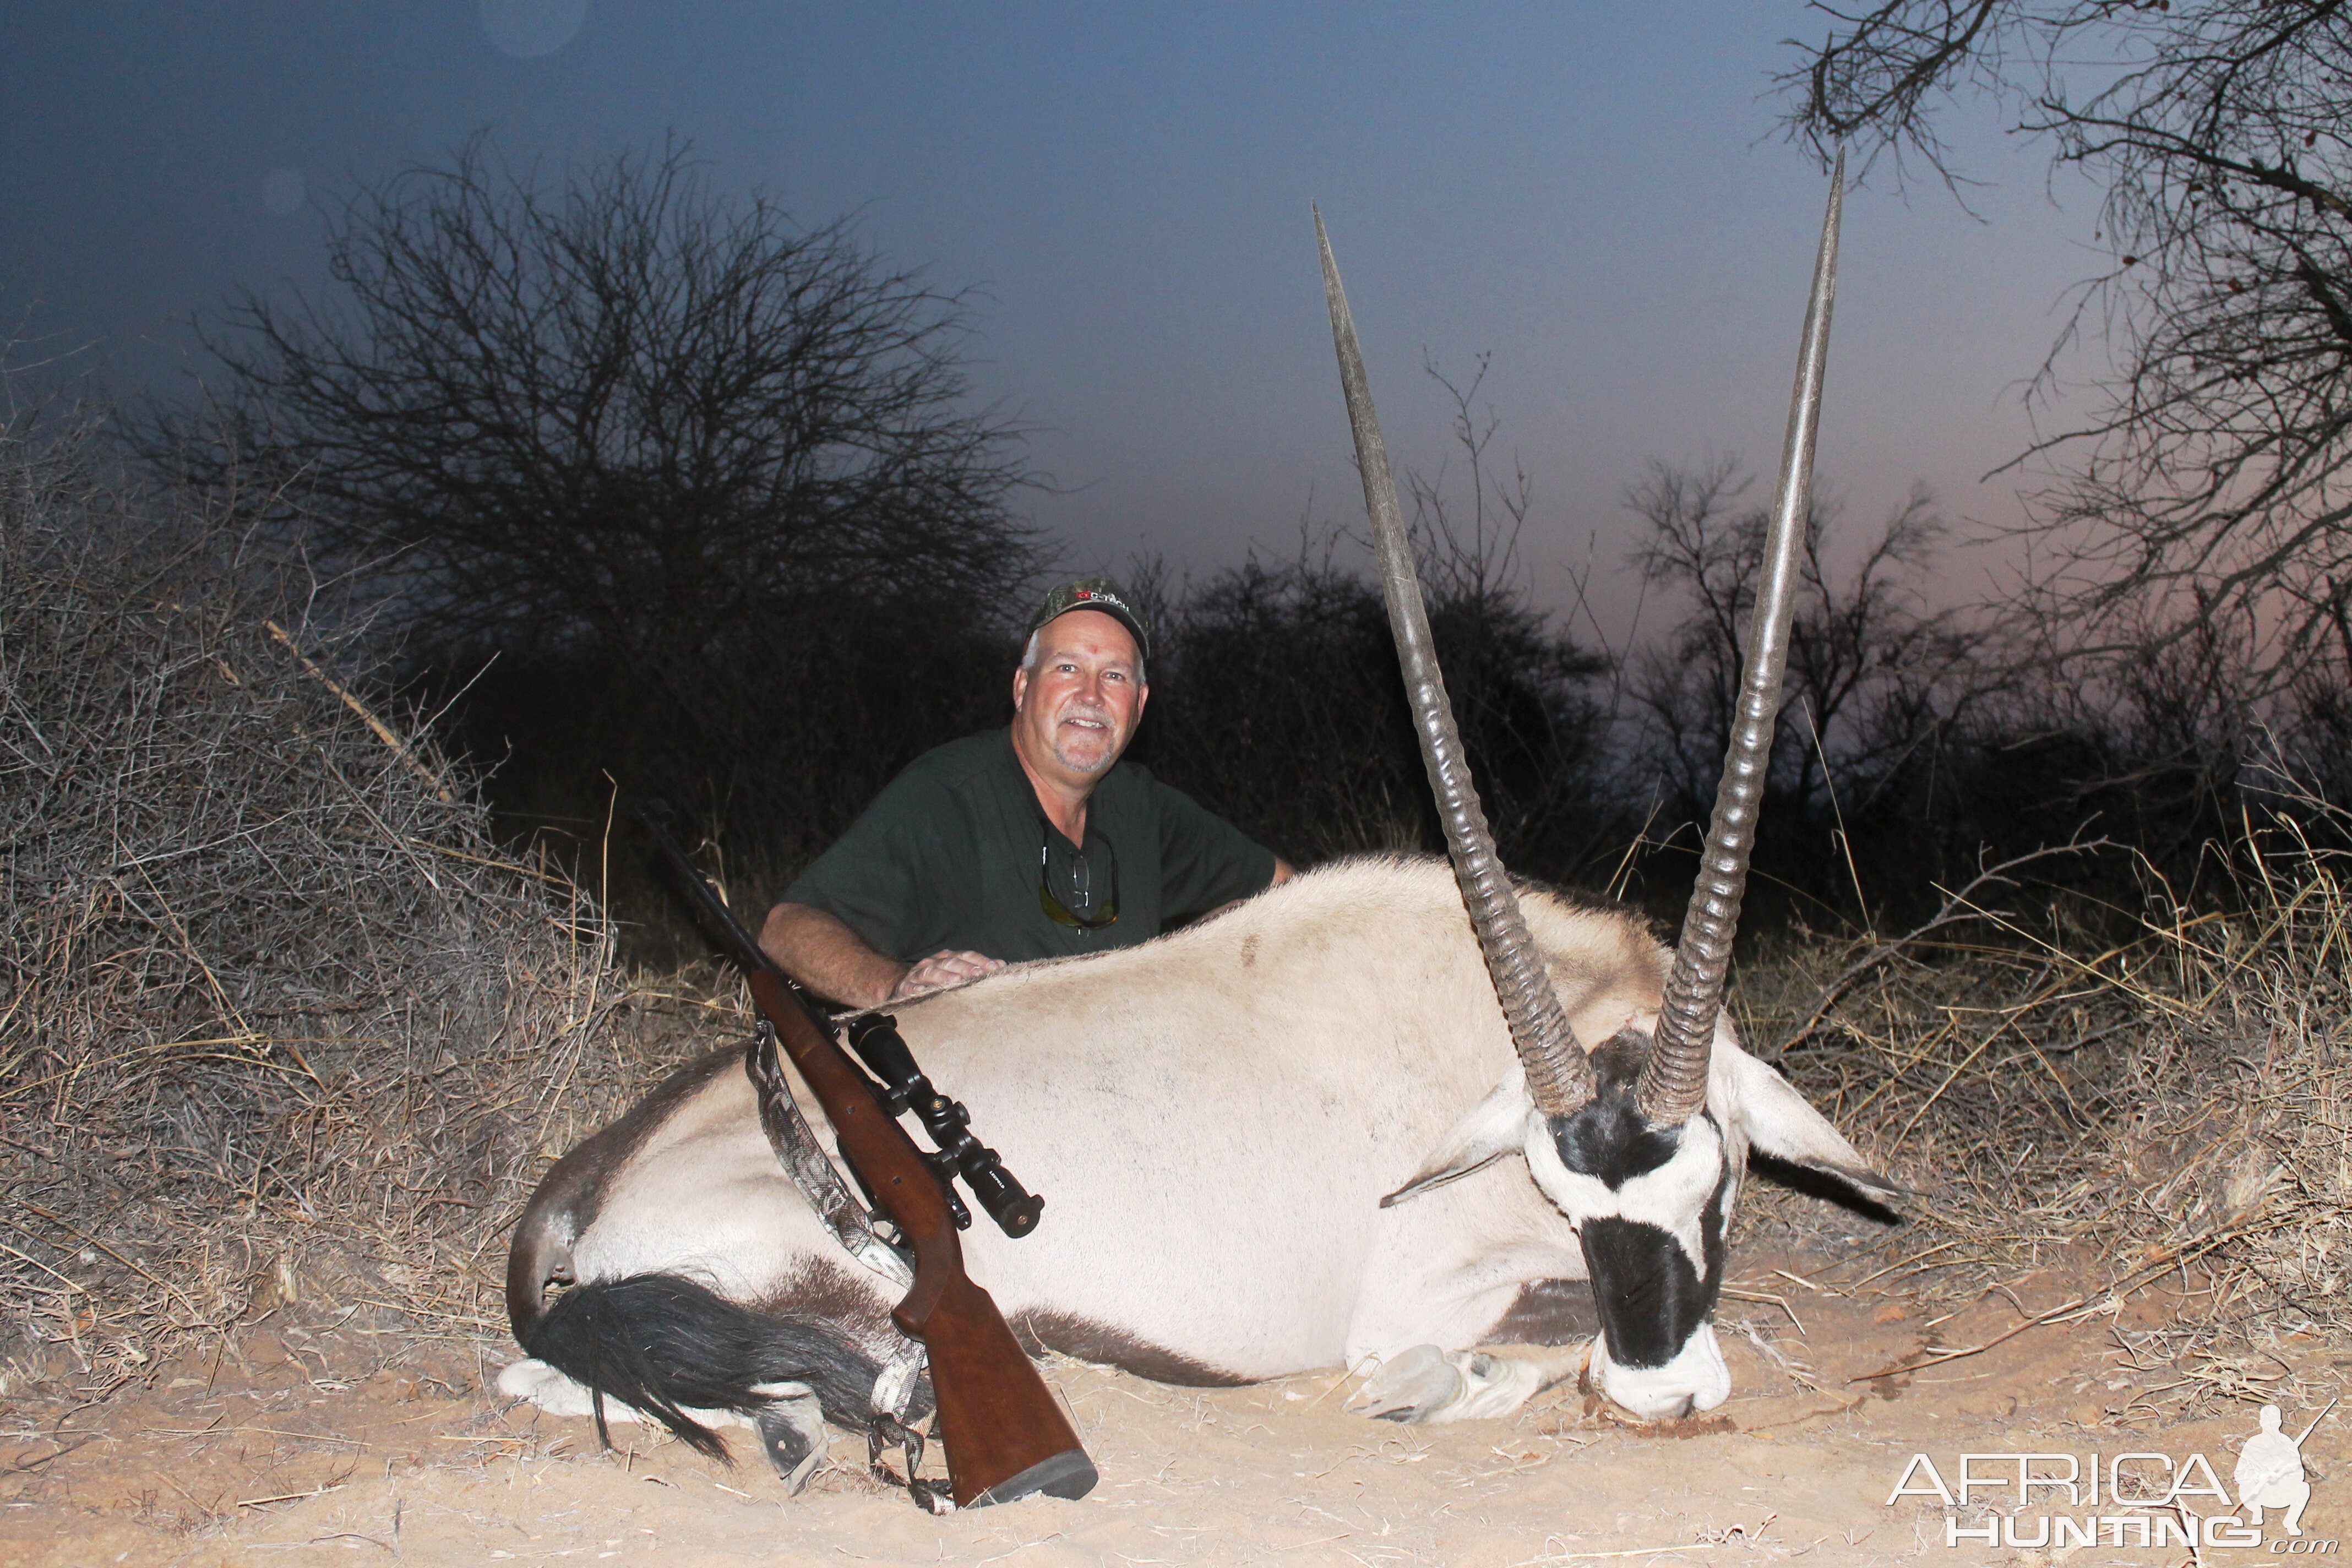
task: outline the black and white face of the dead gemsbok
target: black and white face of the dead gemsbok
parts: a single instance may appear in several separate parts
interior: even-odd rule
[[[1731,1394],[1715,1345],[1731,1161],[1712,1112],[1651,1126],[1635,1105],[1649,1041],[1592,1053],[1599,1093],[1529,1140],[1536,1182],[1576,1225],[1602,1338],[1592,1380],[1644,1420],[1710,1410]]]

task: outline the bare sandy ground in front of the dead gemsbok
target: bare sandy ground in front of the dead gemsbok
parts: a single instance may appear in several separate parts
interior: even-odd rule
[[[2166,1422],[2140,1401],[2150,1373],[2126,1366],[2131,1331],[2161,1324],[2178,1298],[2145,1291],[2117,1312],[1870,1380],[1919,1361],[1929,1345],[1994,1340],[2072,1291],[2058,1279],[2011,1281],[1931,1321],[1896,1295],[1842,1293],[1823,1272],[1823,1260],[1797,1253],[1736,1258],[1740,1300],[1719,1316],[1733,1399],[1682,1429],[1623,1427],[1573,1385],[1512,1420],[1397,1427],[1350,1415],[1338,1371],[1174,1389],[1058,1361],[1047,1375],[1103,1472],[1096,1493],[946,1519],[868,1479],[863,1441],[847,1434],[835,1467],[788,1497],[748,1443],[736,1469],[635,1427],[616,1429],[623,1450],[600,1453],[586,1420],[508,1406],[485,1385],[510,1347],[275,1319],[136,1396],[71,1415],[66,1403],[12,1403],[0,1427],[0,1561],[2192,1561],[2178,1544],[2117,1549],[2105,1537],[2063,1552],[1947,1547],[1947,1514],[1978,1523],[2013,1502],[2004,1493],[1992,1509],[1985,1497],[1964,1509],[1886,1500],[1912,1453],[1929,1453],[1945,1476],[1957,1476],[1962,1450],[2145,1450],[2173,1462],[2204,1453],[2227,1483],[2253,1408]],[[2293,1340],[2279,1363],[2303,1387],[2352,1375]],[[2288,1429],[2310,1415],[2291,1408]],[[2288,1544],[2352,1535],[2352,1422],[2324,1420],[2303,1453],[2312,1481],[2303,1542],[2272,1523],[2263,1547],[2206,1547],[2199,1561],[2270,1561]]]

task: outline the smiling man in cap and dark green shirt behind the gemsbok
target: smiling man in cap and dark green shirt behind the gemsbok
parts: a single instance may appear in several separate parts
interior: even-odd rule
[[[1108,578],[1044,597],[1014,722],[917,757],[769,910],[795,980],[882,1006],[1007,961],[1131,947],[1291,867],[1120,762],[1150,698],[1150,628]]]

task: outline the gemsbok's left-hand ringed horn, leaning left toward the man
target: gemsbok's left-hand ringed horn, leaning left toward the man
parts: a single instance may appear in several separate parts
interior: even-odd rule
[[[1543,954],[1526,933],[1526,917],[1503,875],[1479,809],[1470,762],[1463,757],[1461,731],[1454,726],[1454,703],[1446,698],[1437,649],[1430,642],[1430,614],[1421,604],[1421,578],[1414,574],[1414,545],[1404,536],[1397,510],[1397,482],[1388,473],[1388,447],[1381,442],[1381,418],[1371,411],[1371,386],[1364,378],[1364,353],[1355,343],[1355,317],[1331,261],[1331,237],[1315,209],[1315,242],[1322,247],[1324,301],[1331,306],[1331,343],[1338,348],[1338,383],[1348,395],[1348,423],[1355,428],[1355,465],[1364,475],[1364,510],[1371,515],[1371,548],[1381,562],[1381,590],[1388,595],[1388,625],[1397,637],[1397,663],[1404,668],[1404,691],[1414,705],[1414,729],[1421,733],[1421,762],[1430,769],[1430,790],[1446,825],[1446,856],[1461,884],[1470,929],[1494,994],[1510,1025],[1510,1044],[1526,1067],[1526,1091],[1545,1117],[1566,1117],[1592,1098],[1592,1063],[1569,1030],[1552,980],[1543,973]]]

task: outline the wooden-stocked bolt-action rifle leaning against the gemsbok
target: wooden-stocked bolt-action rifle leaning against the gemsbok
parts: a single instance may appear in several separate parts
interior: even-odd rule
[[[710,936],[743,969],[760,1016],[826,1107],[826,1119],[842,1140],[842,1157],[873,1194],[875,1208],[915,1251],[915,1286],[891,1309],[891,1321],[922,1340],[931,1361],[931,1396],[938,1406],[934,1436],[948,1450],[955,1505],[1011,1502],[1030,1493],[1084,1497],[1096,1481],[1094,1462],[995,1300],[964,1274],[946,1175],[889,1114],[889,1091],[877,1088],[842,1053],[802,990],[760,950],[677,842],[652,813],[640,811],[637,820],[677,872]],[[1021,1194],[1021,1187],[1011,1185],[1011,1192]],[[1033,1204],[1025,1194],[1021,1201]],[[1025,1211],[1025,1225],[1014,1234],[1023,1234],[1028,1225],[1035,1225],[1035,1208]]]

